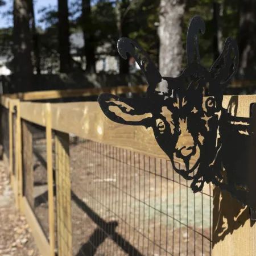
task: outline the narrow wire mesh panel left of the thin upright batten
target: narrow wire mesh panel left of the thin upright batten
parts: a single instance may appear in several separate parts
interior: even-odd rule
[[[47,151],[46,129],[25,121],[28,132],[22,129],[22,154],[23,154],[23,194],[26,196],[35,217],[49,241],[48,222],[48,180],[47,180]],[[32,143],[30,135],[32,134]],[[54,134],[53,134],[54,136]],[[54,139],[54,137],[53,137]],[[31,145],[27,145],[31,143]],[[30,148],[31,146],[31,148]],[[30,151],[31,150],[31,151]],[[53,147],[53,156],[54,147]],[[31,163],[30,163],[31,162]],[[53,164],[55,159],[53,158]],[[54,165],[53,165],[54,166]],[[55,249],[57,249],[57,225],[56,225],[56,187],[55,169],[53,168],[53,206],[55,214]]]

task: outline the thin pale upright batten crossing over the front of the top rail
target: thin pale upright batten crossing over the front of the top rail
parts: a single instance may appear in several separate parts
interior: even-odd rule
[[[48,209],[49,209],[49,243],[51,255],[55,255],[54,205],[53,205],[53,169],[52,169],[52,117],[51,104],[46,104],[46,148],[47,148],[47,179],[48,179]]]

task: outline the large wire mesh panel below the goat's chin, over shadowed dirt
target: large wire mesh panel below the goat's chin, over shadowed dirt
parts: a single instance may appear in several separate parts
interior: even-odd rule
[[[70,145],[73,255],[210,255],[212,187],[192,193],[170,161]]]

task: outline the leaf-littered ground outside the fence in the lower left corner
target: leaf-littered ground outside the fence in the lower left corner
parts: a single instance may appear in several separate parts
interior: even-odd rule
[[[3,161],[0,161],[0,227],[1,256],[40,256],[26,219],[16,210]]]

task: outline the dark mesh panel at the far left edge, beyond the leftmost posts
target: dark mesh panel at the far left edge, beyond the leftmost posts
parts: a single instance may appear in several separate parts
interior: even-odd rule
[[[3,151],[5,152],[7,160],[9,160],[9,109],[3,106],[1,106],[1,136]]]

